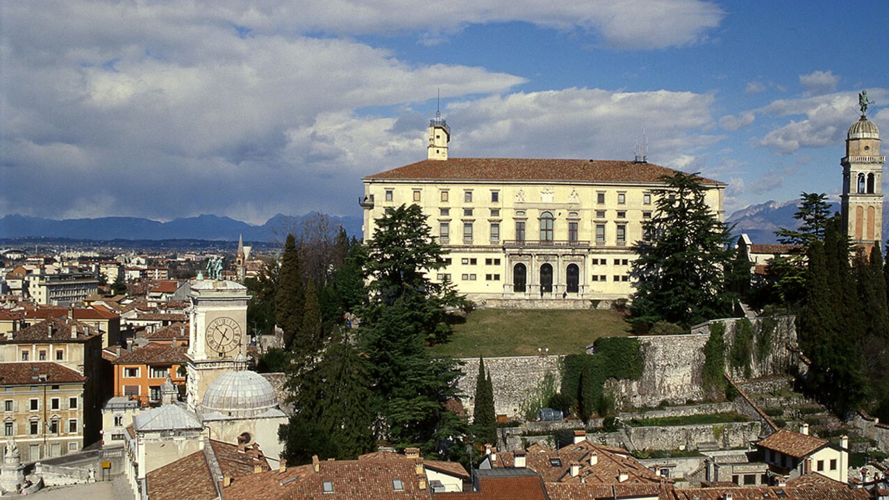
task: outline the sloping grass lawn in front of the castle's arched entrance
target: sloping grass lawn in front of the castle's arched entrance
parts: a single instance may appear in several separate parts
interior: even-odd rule
[[[480,309],[453,326],[451,342],[432,351],[453,358],[530,356],[538,348],[581,353],[598,337],[629,335],[623,319],[616,310]]]

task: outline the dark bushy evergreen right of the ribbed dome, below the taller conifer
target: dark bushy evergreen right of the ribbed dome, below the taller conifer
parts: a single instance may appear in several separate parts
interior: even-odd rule
[[[308,464],[312,456],[354,459],[375,448],[375,395],[367,377],[361,354],[341,338],[320,363],[290,380],[296,411],[278,429],[288,463]]]

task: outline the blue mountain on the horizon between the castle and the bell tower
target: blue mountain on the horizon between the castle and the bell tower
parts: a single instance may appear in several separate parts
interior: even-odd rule
[[[799,200],[794,199],[783,203],[767,201],[759,205],[751,205],[729,215],[725,222],[735,224],[733,234],[740,236],[747,233],[754,243],[778,243],[774,231],[781,228],[796,229],[799,223],[793,218],[797,213]],[[829,203],[831,212],[839,212],[837,202]],[[883,237],[889,237],[889,203],[883,204]]]

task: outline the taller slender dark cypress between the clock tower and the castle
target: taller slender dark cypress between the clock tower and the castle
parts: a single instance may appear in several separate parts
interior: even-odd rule
[[[284,347],[288,349],[302,327],[305,300],[300,252],[296,246],[296,238],[289,234],[284,243],[284,255],[281,259],[281,269],[278,271],[275,294],[277,325],[284,331]]]

